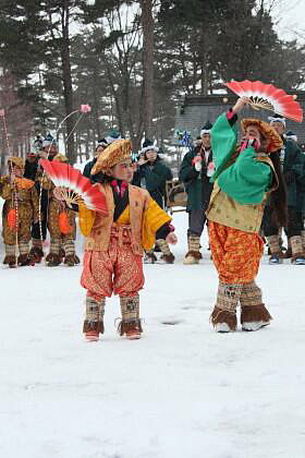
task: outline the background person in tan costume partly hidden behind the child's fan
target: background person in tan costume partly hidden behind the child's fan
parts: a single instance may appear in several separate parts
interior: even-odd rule
[[[57,154],[53,160],[68,164],[66,156],[62,154]],[[75,212],[58,201],[53,193],[56,186],[47,176],[40,180],[40,185],[49,196],[47,228],[50,233],[50,252],[46,256],[47,266],[56,267],[62,262],[69,267],[80,264],[74,243]]]

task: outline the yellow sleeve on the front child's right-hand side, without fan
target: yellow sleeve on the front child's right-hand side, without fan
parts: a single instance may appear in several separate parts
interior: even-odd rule
[[[166,222],[170,222],[171,218],[156,202],[149,197],[144,210],[142,226],[142,244],[144,250],[150,250],[154,246],[156,232]]]

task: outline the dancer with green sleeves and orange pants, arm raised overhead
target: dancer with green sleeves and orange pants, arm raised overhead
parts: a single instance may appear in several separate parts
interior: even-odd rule
[[[216,171],[206,214],[211,256],[219,276],[211,314],[218,333],[236,330],[239,303],[243,330],[258,330],[270,324],[271,316],[255,282],[264,248],[258,232],[267,198],[274,217],[285,225],[285,188],[277,153],[282,138],[268,123],[243,119],[237,145],[237,112],[248,103],[248,98],[241,97],[211,130]]]

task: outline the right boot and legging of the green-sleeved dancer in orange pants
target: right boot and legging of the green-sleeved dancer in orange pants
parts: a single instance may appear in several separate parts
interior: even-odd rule
[[[243,330],[258,330],[270,324],[272,317],[263,303],[261,290],[255,281],[243,285],[240,302]]]

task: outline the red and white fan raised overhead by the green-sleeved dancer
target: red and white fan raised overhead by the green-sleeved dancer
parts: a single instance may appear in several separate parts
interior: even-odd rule
[[[225,86],[240,97],[248,97],[251,106],[256,109],[274,111],[296,122],[302,122],[303,110],[293,96],[278,89],[272,84],[264,84],[261,81],[231,81]]]

